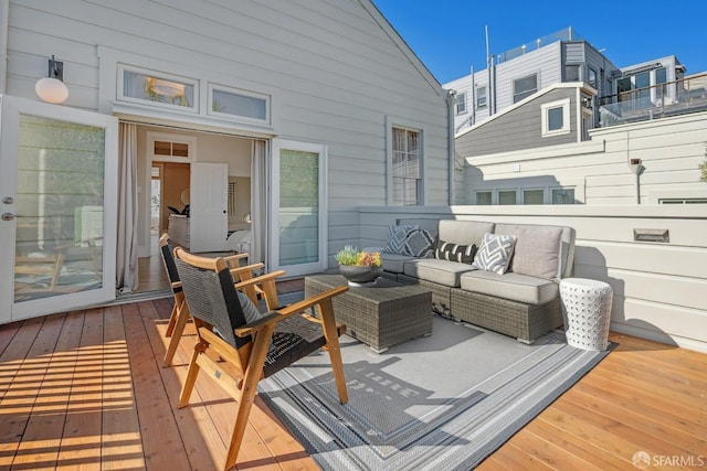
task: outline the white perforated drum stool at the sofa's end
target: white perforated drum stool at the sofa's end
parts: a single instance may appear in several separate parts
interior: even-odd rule
[[[564,278],[560,281],[560,298],[567,343],[582,350],[606,350],[613,299],[611,286],[598,280]]]

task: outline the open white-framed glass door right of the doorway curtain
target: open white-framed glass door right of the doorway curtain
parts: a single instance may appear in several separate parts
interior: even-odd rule
[[[327,268],[326,151],[324,144],[273,141],[270,266],[288,276]]]

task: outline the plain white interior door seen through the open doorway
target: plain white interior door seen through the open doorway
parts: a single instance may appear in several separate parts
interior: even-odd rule
[[[229,235],[229,165],[193,162],[189,193],[189,250],[225,250]]]

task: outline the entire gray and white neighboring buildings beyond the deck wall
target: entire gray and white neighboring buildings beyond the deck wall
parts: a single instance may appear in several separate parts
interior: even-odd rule
[[[571,29],[549,39],[445,85],[455,203],[707,202],[705,76],[686,79],[675,56],[618,68]]]

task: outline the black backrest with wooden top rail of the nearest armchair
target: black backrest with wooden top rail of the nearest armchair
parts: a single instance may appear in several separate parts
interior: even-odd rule
[[[213,325],[219,336],[234,349],[249,343],[250,338],[234,333],[246,321],[223,258],[199,257],[177,247],[173,260],[191,315]]]

